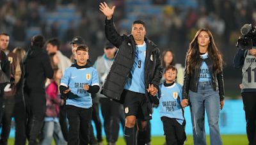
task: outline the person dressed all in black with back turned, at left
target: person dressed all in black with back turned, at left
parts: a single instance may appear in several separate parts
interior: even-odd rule
[[[44,123],[46,109],[45,79],[51,79],[53,70],[47,52],[43,50],[44,37],[37,35],[31,39],[31,47],[24,60],[24,93],[28,110],[27,135],[29,145],[36,144],[36,138]]]

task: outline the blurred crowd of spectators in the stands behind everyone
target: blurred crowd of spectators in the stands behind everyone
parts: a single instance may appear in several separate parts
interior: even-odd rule
[[[74,36],[82,36],[90,48],[99,50],[104,41],[104,17],[100,15],[100,1],[83,0],[0,0],[0,31],[11,34],[10,46],[28,46],[28,29],[37,28],[46,39],[58,37],[63,51],[69,51],[67,44]],[[253,0],[112,0],[116,5],[115,24],[120,34],[129,34],[133,19],[145,20],[148,38],[161,50],[173,48],[183,62],[188,42],[201,27],[214,32],[221,46],[234,46],[240,36],[240,28],[246,23],[256,24],[256,2]],[[134,4],[131,4],[134,3]],[[190,4],[190,5],[189,5]],[[54,13],[59,7],[74,8],[80,16],[75,22],[70,20],[66,29],[61,29],[61,21],[47,22],[45,13]],[[157,8],[157,12],[153,11]],[[44,10],[44,11],[43,11]],[[140,11],[142,10],[142,11]],[[150,13],[152,11],[152,13]],[[129,21],[130,20],[130,21]],[[32,29],[33,31],[33,29]],[[12,48],[11,48],[12,49]],[[222,48],[223,49],[223,48]],[[221,50],[225,53],[225,50]],[[180,54],[179,54],[180,53]],[[70,53],[65,53],[70,54]],[[96,54],[101,55],[101,54]],[[92,57],[92,58],[96,58]]]

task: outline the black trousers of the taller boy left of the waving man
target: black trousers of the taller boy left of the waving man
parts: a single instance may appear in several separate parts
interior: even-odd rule
[[[88,109],[70,105],[66,107],[69,123],[68,145],[88,144],[88,131],[92,120],[92,107]]]

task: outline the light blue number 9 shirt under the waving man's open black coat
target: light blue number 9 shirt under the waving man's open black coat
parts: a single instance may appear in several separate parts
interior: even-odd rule
[[[145,93],[145,80],[144,80],[144,66],[146,58],[146,43],[143,45],[136,45],[135,59],[132,69],[130,71],[129,78],[127,79],[124,89]]]

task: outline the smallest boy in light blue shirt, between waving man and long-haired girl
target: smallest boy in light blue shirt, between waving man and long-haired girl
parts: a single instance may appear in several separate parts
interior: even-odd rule
[[[180,105],[182,101],[182,86],[175,83],[177,69],[168,66],[164,71],[165,82],[159,86],[161,97],[159,98],[160,116],[163,121],[166,144],[184,144],[185,118]]]

